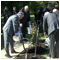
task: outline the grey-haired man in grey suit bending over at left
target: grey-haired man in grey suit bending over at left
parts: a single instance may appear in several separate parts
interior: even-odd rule
[[[11,57],[9,54],[9,43],[11,45],[11,52],[17,53],[13,48],[13,35],[18,32],[19,28],[19,20],[24,17],[23,12],[18,12],[16,15],[12,15],[8,18],[6,24],[3,27],[4,34],[4,48],[5,48],[5,56]]]

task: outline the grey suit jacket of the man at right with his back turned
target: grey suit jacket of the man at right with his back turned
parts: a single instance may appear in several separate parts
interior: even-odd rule
[[[59,20],[56,18],[56,15],[53,13],[48,13],[43,17],[43,31],[46,32],[48,28],[48,35],[51,34],[54,30],[59,29]]]

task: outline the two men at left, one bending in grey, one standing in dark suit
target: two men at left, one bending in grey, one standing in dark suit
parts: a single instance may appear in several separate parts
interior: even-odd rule
[[[28,6],[25,6],[24,9],[19,11],[17,14],[8,18],[6,24],[3,27],[5,56],[11,57],[9,54],[9,43],[11,45],[11,52],[18,53],[13,48],[13,36],[19,31],[19,28],[22,28],[23,37],[25,38],[26,27],[29,24],[30,15]]]

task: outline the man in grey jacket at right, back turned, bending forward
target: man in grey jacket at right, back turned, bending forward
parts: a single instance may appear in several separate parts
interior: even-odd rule
[[[49,57],[59,57],[59,21],[56,15],[46,12],[43,17],[43,31],[46,36],[46,27],[48,28],[48,36],[50,39]],[[54,42],[56,41],[56,44]],[[57,48],[57,49],[56,49]]]

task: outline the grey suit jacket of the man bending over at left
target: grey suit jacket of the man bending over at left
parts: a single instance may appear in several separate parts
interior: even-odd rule
[[[8,18],[4,25],[3,31],[6,31],[9,36],[13,36],[18,32],[18,27],[18,15],[12,15]]]

